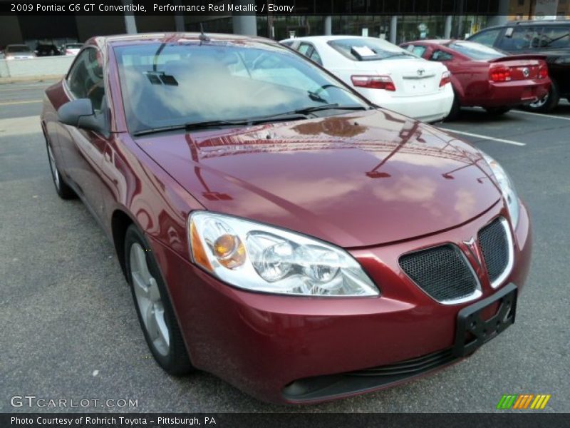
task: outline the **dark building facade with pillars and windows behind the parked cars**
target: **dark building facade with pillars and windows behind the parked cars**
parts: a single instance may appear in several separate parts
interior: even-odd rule
[[[4,0],[0,0],[4,1]],[[123,4],[131,0],[121,0]],[[175,1],[175,0],[172,0]],[[260,5],[266,0],[234,0]],[[507,20],[570,19],[570,0],[290,0],[294,14],[197,16],[62,15],[0,16],[0,49],[6,44],[60,46],[91,36],[152,31],[199,31],[250,34],[270,39],[318,34],[380,37],[393,43],[416,39],[462,39]],[[209,0],[193,1],[208,3]],[[227,1],[226,1],[227,2]],[[179,0],[178,4],[188,3]]]

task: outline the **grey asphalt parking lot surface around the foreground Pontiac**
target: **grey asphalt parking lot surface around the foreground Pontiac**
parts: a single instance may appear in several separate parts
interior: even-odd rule
[[[152,360],[113,246],[53,188],[38,118],[48,84],[0,85],[0,412],[494,412],[502,394],[551,394],[544,412],[570,412],[570,103],[549,115],[470,109],[437,124],[502,163],[529,206],[534,255],[515,325],[423,379],[284,407],[204,372],[169,377]],[[100,402],[13,407],[21,395]]]

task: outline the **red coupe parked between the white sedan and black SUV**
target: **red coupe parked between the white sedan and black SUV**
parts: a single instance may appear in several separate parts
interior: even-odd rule
[[[447,66],[455,92],[448,120],[456,118],[462,106],[480,106],[494,115],[507,113],[544,97],[550,88],[548,67],[540,56],[507,56],[460,40],[410,41],[400,46]]]

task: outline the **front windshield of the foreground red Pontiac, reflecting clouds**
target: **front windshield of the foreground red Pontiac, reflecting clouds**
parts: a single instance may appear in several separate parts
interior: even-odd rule
[[[209,121],[245,121],[338,104],[368,107],[283,46],[207,42],[115,48],[131,133]],[[321,114],[338,114],[331,109]]]

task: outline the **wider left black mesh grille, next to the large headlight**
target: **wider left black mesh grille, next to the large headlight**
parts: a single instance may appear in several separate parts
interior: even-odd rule
[[[457,300],[475,292],[477,280],[455,245],[428,248],[400,257],[400,267],[435,300]]]

